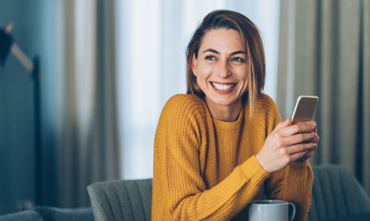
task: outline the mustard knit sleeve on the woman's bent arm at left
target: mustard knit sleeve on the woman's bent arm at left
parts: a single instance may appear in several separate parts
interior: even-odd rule
[[[184,103],[184,102],[175,102]],[[170,220],[230,220],[256,195],[270,176],[255,156],[206,190],[200,173],[202,121],[187,106],[165,106],[157,128],[158,165],[167,194]]]

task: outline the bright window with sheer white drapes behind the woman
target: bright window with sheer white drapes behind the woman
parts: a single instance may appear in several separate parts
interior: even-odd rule
[[[119,1],[117,70],[122,178],[153,176],[155,129],[165,102],[186,92],[185,47],[210,11],[226,8],[260,28],[266,53],[265,93],[276,100],[280,1]]]

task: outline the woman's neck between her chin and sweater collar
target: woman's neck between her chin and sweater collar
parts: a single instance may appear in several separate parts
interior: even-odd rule
[[[242,108],[241,98],[239,99],[239,101],[225,106],[217,105],[213,102],[210,102],[207,98],[205,98],[205,101],[208,106],[209,112],[211,112],[212,117],[225,122],[236,121]]]

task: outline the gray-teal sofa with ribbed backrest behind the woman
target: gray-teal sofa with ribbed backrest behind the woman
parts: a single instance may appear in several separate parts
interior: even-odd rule
[[[370,220],[370,198],[350,170],[342,165],[312,169],[312,204],[306,221]],[[98,182],[87,190],[92,208],[36,207],[0,216],[0,221],[151,219],[152,179]]]

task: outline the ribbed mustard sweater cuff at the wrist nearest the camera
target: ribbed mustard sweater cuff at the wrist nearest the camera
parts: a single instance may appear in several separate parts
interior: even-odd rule
[[[271,175],[261,167],[255,155],[241,164],[239,169],[244,174],[246,182],[253,183],[255,186],[260,186]]]

